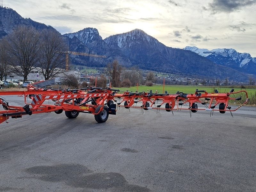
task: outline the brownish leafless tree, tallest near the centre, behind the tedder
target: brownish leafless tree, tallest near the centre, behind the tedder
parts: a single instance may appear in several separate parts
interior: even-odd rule
[[[114,60],[112,63],[108,63],[106,68],[106,74],[110,77],[110,82],[113,87],[120,87],[120,76],[122,73],[122,66],[118,63],[117,60]]]

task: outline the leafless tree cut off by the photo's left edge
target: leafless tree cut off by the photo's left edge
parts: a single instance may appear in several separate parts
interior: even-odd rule
[[[0,80],[6,80],[8,75],[13,72],[13,67],[10,66],[9,61],[11,60],[10,55],[7,51],[7,41],[2,39],[0,41]]]

